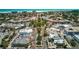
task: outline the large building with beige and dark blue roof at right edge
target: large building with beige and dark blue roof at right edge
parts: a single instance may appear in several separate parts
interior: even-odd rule
[[[68,39],[73,39],[79,42],[79,27],[66,28],[64,31],[64,35]]]

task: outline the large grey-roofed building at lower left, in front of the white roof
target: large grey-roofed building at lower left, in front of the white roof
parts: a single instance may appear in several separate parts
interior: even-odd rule
[[[12,47],[26,47],[29,38],[26,35],[19,35],[12,43]]]

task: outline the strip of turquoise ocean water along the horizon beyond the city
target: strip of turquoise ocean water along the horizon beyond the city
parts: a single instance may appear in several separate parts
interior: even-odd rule
[[[0,9],[0,13],[7,13],[7,12],[47,12],[47,11],[69,11],[72,9]]]

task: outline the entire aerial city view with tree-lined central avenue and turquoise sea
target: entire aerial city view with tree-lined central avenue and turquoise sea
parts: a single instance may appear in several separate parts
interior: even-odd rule
[[[0,9],[0,49],[78,48],[78,9]]]

